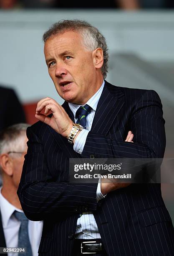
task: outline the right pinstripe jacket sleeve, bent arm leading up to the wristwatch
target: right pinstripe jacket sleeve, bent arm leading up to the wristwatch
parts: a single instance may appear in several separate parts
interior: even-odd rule
[[[164,123],[161,100],[155,91],[148,90],[137,101],[128,120],[134,143],[89,132],[82,157],[92,154],[95,158],[163,158]]]

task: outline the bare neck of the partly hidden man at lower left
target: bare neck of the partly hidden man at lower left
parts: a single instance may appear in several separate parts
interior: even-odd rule
[[[17,195],[17,188],[12,184],[9,184],[9,182],[3,181],[3,187],[1,189],[1,194],[5,199],[16,208],[22,210],[22,207],[20,205],[20,201]]]

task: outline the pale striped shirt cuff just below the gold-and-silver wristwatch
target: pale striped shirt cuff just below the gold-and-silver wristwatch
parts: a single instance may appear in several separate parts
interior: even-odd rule
[[[82,154],[83,148],[86,143],[86,138],[88,136],[88,130],[83,129],[77,136],[76,141],[74,143],[73,149],[79,154]]]

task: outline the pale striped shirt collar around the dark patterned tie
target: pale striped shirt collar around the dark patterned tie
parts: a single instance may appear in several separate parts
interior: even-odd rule
[[[101,84],[101,87],[98,89],[98,91],[86,102],[86,104],[88,104],[95,111],[96,111],[97,104],[100,99],[101,93],[103,91],[104,84],[105,84],[105,82],[103,81],[103,83]],[[78,108],[80,106],[83,106],[83,105],[78,105],[78,104],[74,104],[74,103],[70,103],[70,102],[68,103],[68,105],[69,105],[71,111],[73,112],[74,118],[75,118],[76,111],[78,110]]]

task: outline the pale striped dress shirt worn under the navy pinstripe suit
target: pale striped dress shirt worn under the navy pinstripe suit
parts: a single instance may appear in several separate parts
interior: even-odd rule
[[[83,129],[79,133],[79,135],[76,138],[76,141],[74,143],[74,146],[73,146],[74,150],[80,154],[83,152],[83,148],[85,146],[88,132],[91,130],[93,118],[96,113],[97,104],[101,97],[103,87],[104,87],[104,81],[103,81],[100,89],[91,97],[91,99],[88,100],[88,102],[86,102],[86,104],[88,104],[92,108],[92,110],[86,117],[86,129]],[[78,108],[81,105],[77,105],[77,104],[73,104],[73,103],[68,103],[68,104],[69,104],[71,111],[73,112],[74,120],[76,122],[77,121],[77,118],[75,118],[76,111],[78,110]],[[101,180],[99,179],[97,192],[96,192],[97,202],[99,200],[103,199],[103,195],[101,193],[101,188],[100,188],[100,181]],[[78,218],[75,238],[78,238],[78,239],[101,238],[100,233],[98,231],[96,220],[95,220],[92,212],[83,212],[81,214],[81,217]]]

